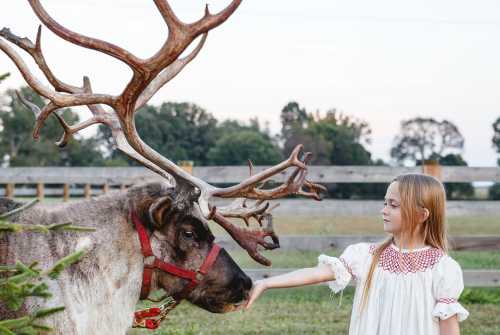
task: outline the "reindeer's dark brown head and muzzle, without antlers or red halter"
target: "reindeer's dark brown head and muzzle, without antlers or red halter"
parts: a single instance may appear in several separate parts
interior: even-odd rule
[[[152,232],[157,257],[183,269],[198,269],[214,244],[208,222],[192,206],[195,199],[180,197],[168,183],[139,185],[127,190],[130,206]],[[156,272],[156,286],[179,295],[186,280]],[[211,312],[233,310],[246,300],[252,281],[222,249],[215,263],[187,300]]]

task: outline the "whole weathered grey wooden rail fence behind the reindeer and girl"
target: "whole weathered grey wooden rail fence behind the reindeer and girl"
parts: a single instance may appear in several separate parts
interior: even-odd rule
[[[265,169],[257,166],[254,171]],[[318,183],[389,183],[394,176],[410,172],[432,172],[443,182],[500,182],[500,168],[443,166],[436,169],[419,167],[385,166],[312,166],[308,179]],[[193,175],[212,184],[234,184],[248,177],[248,168],[243,166],[194,167]],[[273,178],[282,182],[287,173]],[[132,184],[163,180],[143,167],[118,168],[0,168],[0,195],[6,196],[59,196],[68,200],[70,196],[86,198],[106,193],[113,189],[124,189]],[[3,187],[2,187],[3,185]],[[3,191],[3,194],[1,193]],[[381,207],[381,201],[332,200],[322,202],[311,200],[280,200],[280,206],[273,211],[280,215],[331,216],[331,215],[374,215]],[[448,214],[499,216],[500,201],[449,201]],[[343,249],[357,242],[379,241],[381,236],[282,236],[281,249],[324,252]],[[225,248],[238,248],[233,240],[219,241]],[[455,250],[500,250],[500,236],[455,236],[452,238]],[[246,269],[253,279],[291,271],[293,269]],[[466,270],[464,280],[467,286],[500,286],[499,270]]]

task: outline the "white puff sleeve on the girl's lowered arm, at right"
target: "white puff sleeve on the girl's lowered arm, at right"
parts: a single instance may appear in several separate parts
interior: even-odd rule
[[[469,312],[458,302],[464,289],[464,279],[460,265],[449,256],[445,256],[438,264],[433,291],[436,304],[432,316],[446,320],[457,315],[458,321],[463,321]]]

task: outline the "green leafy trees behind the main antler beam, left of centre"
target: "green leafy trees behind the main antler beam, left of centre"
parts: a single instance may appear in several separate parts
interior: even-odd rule
[[[281,153],[272,138],[261,131],[257,120],[243,125],[217,120],[201,107],[189,103],[145,106],[135,117],[137,132],[153,149],[174,162],[190,160],[194,165],[274,164]],[[113,148],[111,132],[99,127],[98,138],[110,153],[106,166],[136,164]]]

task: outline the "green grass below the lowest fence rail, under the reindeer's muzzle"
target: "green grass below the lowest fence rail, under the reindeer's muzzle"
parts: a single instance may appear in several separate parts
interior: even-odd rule
[[[461,299],[470,317],[461,323],[461,334],[500,334],[500,289],[473,289]],[[483,296],[483,300],[477,297]],[[468,297],[475,296],[470,301]],[[484,297],[491,296],[489,300]],[[190,334],[347,334],[353,289],[340,297],[330,295],[327,287],[271,290],[250,311],[211,314],[189,303],[175,309],[162,327],[153,332],[132,330],[130,335]],[[498,299],[498,302],[494,301]]]

